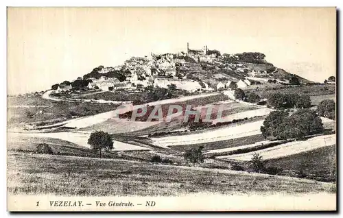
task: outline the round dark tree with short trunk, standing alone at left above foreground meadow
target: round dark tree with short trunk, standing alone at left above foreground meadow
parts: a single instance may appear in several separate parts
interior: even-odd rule
[[[110,151],[113,149],[113,141],[110,134],[103,131],[92,132],[88,138],[88,145],[91,145],[91,149],[95,153],[99,151],[100,158],[102,158],[102,150]]]

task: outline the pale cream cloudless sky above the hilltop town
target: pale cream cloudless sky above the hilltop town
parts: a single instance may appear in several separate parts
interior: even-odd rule
[[[314,82],[336,74],[335,8],[8,8],[8,94],[47,90],[130,56],[259,51]]]

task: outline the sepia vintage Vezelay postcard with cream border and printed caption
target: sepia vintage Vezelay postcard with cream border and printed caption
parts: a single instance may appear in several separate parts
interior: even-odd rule
[[[336,210],[336,8],[8,8],[9,211]]]

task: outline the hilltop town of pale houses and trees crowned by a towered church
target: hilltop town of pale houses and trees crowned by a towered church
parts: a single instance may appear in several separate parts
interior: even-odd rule
[[[150,53],[132,57],[119,66],[98,66],[78,81],[62,82],[51,88],[56,93],[80,87],[88,90],[176,88],[189,93],[232,90],[261,84],[307,84],[308,80],[279,69],[263,53],[221,54],[206,45],[178,53]]]

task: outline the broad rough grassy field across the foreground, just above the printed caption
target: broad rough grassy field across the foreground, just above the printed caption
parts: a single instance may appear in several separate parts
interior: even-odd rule
[[[335,184],[220,169],[10,152],[8,191],[79,196],[335,193]]]

